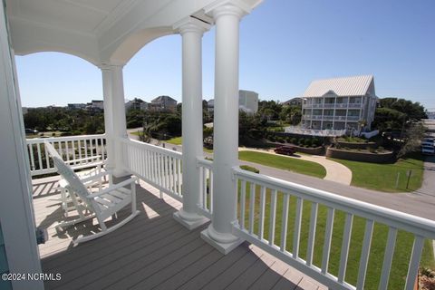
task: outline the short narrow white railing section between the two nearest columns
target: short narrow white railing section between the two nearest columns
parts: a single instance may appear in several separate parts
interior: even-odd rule
[[[211,219],[213,213],[213,162],[198,159],[200,169],[200,196],[201,204],[198,205],[199,213]]]

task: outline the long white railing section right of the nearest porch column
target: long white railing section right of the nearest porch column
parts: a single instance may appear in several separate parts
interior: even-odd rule
[[[425,238],[435,238],[434,221],[266,175],[247,172],[238,169],[238,167],[233,169],[233,174],[239,191],[238,194],[235,193],[238,200],[238,219],[233,223],[233,233],[238,237],[263,248],[268,253],[332,289],[364,289],[371,254],[373,227],[375,223],[376,225],[385,225],[388,228],[388,237],[379,289],[387,289],[396,237],[398,231],[406,231],[413,236],[413,247],[405,289],[413,289],[420,264],[423,241]],[[308,205],[311,205],[309,210]],[[322,227],[317,227],[321,210],[326,216],[325,224]],[[334,217],[338,215],[343,218],[343,227],[334,229],[334,226],[337,226],[337,223],[334,223]],[[301,247],[301,241],[306,238],[306,236],[302,237],[301,230],[303,216],[309,217],[309,225],[305,225],[308,228],[304,227],[305,235],[308,232],[306,247],[304,247],[306,250],[304,251]],[[361,256],[358,261],[357,282],[356,285],[351,285],[346,282],[345,278],[354,218],[358,218],[359,222],[364,223],[365,231],[362,237]],[[314,244],[317,240],[316,233],[319,234],[319,230],[324,233],[322,259],[320,263],[314,263]],[[339,233],[341,236],[337,275],[332,275],[328,271],[331,266],[333,232],[334,234]]]

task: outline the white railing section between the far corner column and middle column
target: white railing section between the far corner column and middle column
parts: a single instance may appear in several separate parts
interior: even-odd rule
[[[181,153],[138,140],[122,139],[127,170],[161,192],[182,201]]]

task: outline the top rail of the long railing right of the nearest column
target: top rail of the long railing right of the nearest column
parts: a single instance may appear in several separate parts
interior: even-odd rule
[[[298,196],[307,200],[324,204],[331,208],[337,208],[352,213],[362,218],[382,222],[391,227],[405,229],[421,237],[435,239],[435,221],[420,218],[390,208],[382,208],[353,198],[345,198],[331,192],[313,189],[294,182],[275,179],[263,174],[256,174],[246,170],[233,168],[236,177],[247,179],[259,185],[265,185],[271,189],[277,189],[284,193]]]

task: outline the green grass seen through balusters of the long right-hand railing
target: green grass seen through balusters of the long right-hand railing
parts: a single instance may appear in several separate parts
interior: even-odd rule
[[[240,186],[239,186],[240,189]],[[250,198],[250,185],[247,183],[247,195],[246,195],[246,205],[247,209],[245,211],[245,227],[249,227],[249,198]],[[254,234],[258,234],[258,216],[259,216],[259,199],[260,199],[260,188],[256,186],[255,195],[255,222],[254,222]],[[240,194],[239,194],[240,198]],[[277,247],[281,246],[281,231],[282,231],[282,212],[284,205],[284,194],[277,193],[276,202],[276,219],[275,219],[275,238],[274,242]],[[269,239],[269,219],[270,219],[270,203],[271,203],[271,190],[266,189],[266,210],[265,210],[265,234],[264,238]],[[301,236],[300,236],[300,247],[299,256],[306,259],[306,249],[309,233],[309,223],[310,223],[310,211],[312,203],[310,201],[304,200],[303,204],[303,215],[301,223]],[[289,252],[293,252],[293,232],[295,228],[295,208],[296,208],[296,198],[291,197],[289,203],[289,214],[288,214],[288,226],[286,230],[286,244],[285,249]],[[240,207],[237,208],[237,217],[240,220]],[[317,227],[315,230],[314,239],[314,260],[313,264],[315,266],[321,266],[322,255],[324,247],[324,231],[326,223],[327,208],[325,206],[319,206],[318,216],[317,216]],[[329,256],[329,268],[328,272],[332,275],[338,275],[338,269],[340,265],[340,255],[343,242],[343,228],[344,220],[346,214],[343,211],[335,210],[334,220],[333,220],[333,238],[331,244],[331,254]],[[364,236],[365,229],[365,219],[354,217],[353,218],[353,228],[351,244],[349,249],[349,257],[346,268],[345,281],[356,285],[358,277],[358,268],[361,258],[362,251],[362,240]],[[364,289],[377,289],[380,281],[383,255],[385,251],[386,240],[388,236],[388,227],[382,224],[375,223],[373,235],[372,235],[372,247],[369,256],[369,265],[366,275],[366,281]],[[403,231],[398,232],[396,239],[396,247],[394,250],[394,256],[391,266],[391,279],[388,289],[403,289],[405,284],[406,275],[408,272],[408,263],[411,256],[411,249],[413,243],[413,236],[410,233]],[[421,266],[433,268],[435,266],[435,261],[433,258],[433,251],[431,247],[431,241],[426,240],[423,248],[423,253],[421,257]]]

